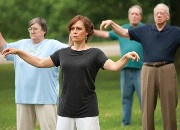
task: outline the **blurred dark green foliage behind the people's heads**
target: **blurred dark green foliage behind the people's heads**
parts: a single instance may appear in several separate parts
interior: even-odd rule
[[[143,0],[1,0],[0,31],[8,39],[28,38],[28,22],[34,17],[42,17],[49,26],[47,38],[67,42],[68,22],[77,14],[88,16],[99,28],[102,20],[106,19],[125,23],[129,7],[139,4],[144,9],[143,21],[146,22],[152,20],[149,14],[152,14],[154,3]]]

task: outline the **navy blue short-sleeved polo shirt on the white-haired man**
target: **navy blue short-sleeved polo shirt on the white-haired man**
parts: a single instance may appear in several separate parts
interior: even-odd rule
[[[173,62],[180,45],[180,28],[166,25],[158,31],[155,24],[129,29],[131,40],[142,44],[144,62]]]

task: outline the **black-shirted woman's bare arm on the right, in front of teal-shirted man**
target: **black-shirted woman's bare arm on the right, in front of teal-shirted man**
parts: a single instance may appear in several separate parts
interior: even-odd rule
[[[140,58],[136,52],[134,52],[134,51],[128,52],[121,59],[119,59],[116,62],[112,61],[111,59],[108,59],[104,63],[103,68],[105,70],[119,71],[126,65],[126,63],[128,62],[129,59],[136,60],[138,62],[138,60]]]

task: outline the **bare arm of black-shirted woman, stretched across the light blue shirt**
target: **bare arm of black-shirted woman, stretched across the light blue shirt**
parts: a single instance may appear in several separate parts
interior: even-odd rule
[[[6,55],[8,55],[8,54],[17,54],[24,61],[26,61],[27,63],[29,63],[35,67],[50,68],[50,67],[54,66],[54,63],[50,57],[38,58],[38,57],[35,57],[32,55],[29,55],[28,53],[26,53],[22,50],[15,49],[15,48],[6,48],[2,51],[2,55],[4,55],[4,57],[6,57]]]

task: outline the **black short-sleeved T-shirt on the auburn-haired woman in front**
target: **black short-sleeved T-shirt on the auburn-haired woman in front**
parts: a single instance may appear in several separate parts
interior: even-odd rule
[[[62,93],[58,115],[71,118],[93,117],[99,114],[95,79],[108,60],[97,48],[75,51],[70,47],[52,54],[55,66],[62,71]]]

